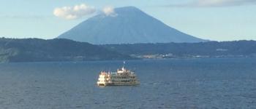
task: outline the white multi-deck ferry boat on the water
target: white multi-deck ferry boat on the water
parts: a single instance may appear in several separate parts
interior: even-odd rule
[[[139,85],[140,82],[135,75],[135,72],[127,70],[124,66],[117,69],[116,72],[102,71],[99,73],[97,81],[98,86],[124,86],[124,85]]]

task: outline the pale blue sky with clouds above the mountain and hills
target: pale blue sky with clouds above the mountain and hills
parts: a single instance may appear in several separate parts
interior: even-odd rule
[[[256,0],[0,0],[0,37],[54,39],[99,12],[134,6],[200,39],[256,40]]]

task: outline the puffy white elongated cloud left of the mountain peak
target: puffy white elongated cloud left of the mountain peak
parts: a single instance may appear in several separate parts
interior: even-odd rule
[[[66,20],[77,19],[86,15],[91,15],[96,12],[94,7],[86,4],[75,5],[74,7],[58,7],[54,9],[53,15]]]

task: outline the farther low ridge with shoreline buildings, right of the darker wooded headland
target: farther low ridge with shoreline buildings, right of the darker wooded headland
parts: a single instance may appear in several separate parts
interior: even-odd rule
[[[107,49],[148,57],[256,57],[256,41],[209,41],[167,44],[107,44]]]

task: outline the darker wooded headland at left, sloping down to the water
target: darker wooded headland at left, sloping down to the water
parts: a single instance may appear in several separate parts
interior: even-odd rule
[[[0,39],[0,62],[123,60],[127,55],[68,39]]]

